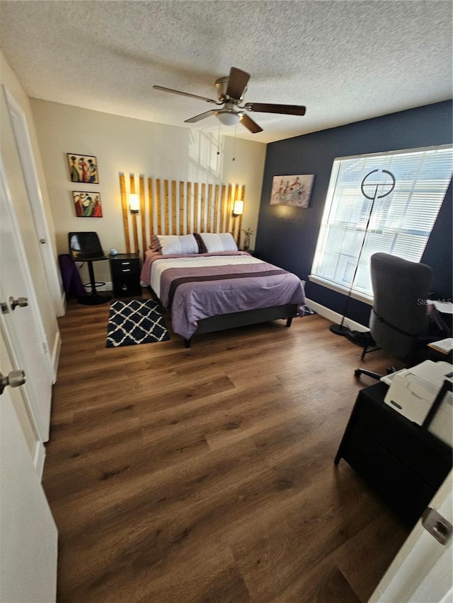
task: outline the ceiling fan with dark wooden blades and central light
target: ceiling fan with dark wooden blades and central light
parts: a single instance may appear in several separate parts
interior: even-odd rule
[[[198,96],[197,94],[190,94],[188,92],[181,92],[181,90],[173,90],[173,88],[164,88],[163,86],[153,86],[156,90],[163,90],[164,92],[171,92],[172,94],[180,94],[183,96],[190,96],[191,98],[199,98],[205,100],[206,103],[214,103],[219,105],[219,109],[211,109],[185,119],[185,123],[199,122],[200,119],[215,115],[220,119],[222,124],[226,126],[233,126],[238,122],[241,122],[252,134],[262,132],[263,128],[258,126],[256,122],[246,115],[246,111],[255,111],[259,113],[281,113],[285,115],[305,115],[305,107],[302,105],[274,105],[272,103],[245,103],[241,105],[243,95],[246,93],[247,83],[250,75],[246,71],[242,71],[237,67],[231,67],[229,76],[219,78],[215,82],[217,88],[217,100],[213,98],[206,98],[205,96]]]

